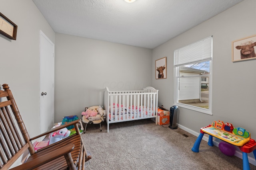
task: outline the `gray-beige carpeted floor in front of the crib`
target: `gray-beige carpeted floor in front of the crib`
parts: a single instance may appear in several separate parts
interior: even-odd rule
[[[188,137],[187,137],[188,136]],[[82,134],[88,154],[88,170],[242,170],[242,159],[226,156],[218,147],[202,141],[199,153],[191,148],[194,135],[168,125],[156,125],[150,119],[89,125]],[[256,166],[250,164],[251,170]]]

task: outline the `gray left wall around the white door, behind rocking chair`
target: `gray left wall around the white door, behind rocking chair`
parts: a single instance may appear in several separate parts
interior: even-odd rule
[[[0,35],[0,84],[7,83],[31,137],[39,134],[40,29],[55,33],[32,0],[1,0],[0,12],[18,25],[17,39]]]

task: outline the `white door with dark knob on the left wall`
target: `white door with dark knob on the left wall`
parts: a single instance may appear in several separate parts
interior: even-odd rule
[[[54,44],[40,31],[40,133],[54,125]]]

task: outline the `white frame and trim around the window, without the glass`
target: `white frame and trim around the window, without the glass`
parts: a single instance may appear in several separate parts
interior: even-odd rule
[[[194,47],[194,45],[196,45],[197,43],[200,43],[201,41],[204,41],[206,39],[211,39],[211,56],[207,59],[204,58],[204,56],[199,57],[199,59],[196,59],[197,61],[193,61],[190,62],[190,60],[188,59],[187,61],[182,61],[182,62],[177,62],[177,51],[180,49],[190,49],[191,47]],[[213,38],[211,37],[207,37],[205,39],[202,39],[200,41],[197,41],[195,43],[192,43],[190,45],[187,45],[185,47],[182,47],[180,49],[176,49],[174,51],[174,105],[179,106],[179,107],[184,107],[186,109],[190,109],[190,110],[194,110],[194,111],[198,111],[201,113],[206,113],[208,115],[212,115],[212,41]],[[176,60],[175,60],[176,57]],[[190,57],[190,56],[189,56]],[[210,61],[210,74],[207,74],[207,76],[209,77],[209,108],[208,109],[204,109],[202,107],[196,107],[196,106],[192,106],[192,105],[188,105],[188,104],[182,104],[178,102],[178,78],[179,78],[179,66],[184,66],[184,65],[188,65],[188,64],[192,64],[192,63],[198,63],[198,62],[203,62],[203,61]],[[180,64],[182,63],[182,64]],[[201,75],[201,76],[206,76],[206,75]],[[193,76],[186,76],[186,77],[193,77]]]

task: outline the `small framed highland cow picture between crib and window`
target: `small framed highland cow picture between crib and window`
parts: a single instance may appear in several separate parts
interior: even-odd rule
[[[166,57],[156,60],[156,79],[166,78]]]

